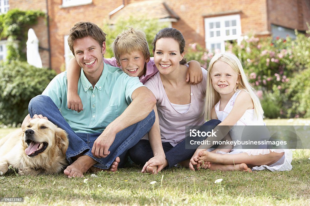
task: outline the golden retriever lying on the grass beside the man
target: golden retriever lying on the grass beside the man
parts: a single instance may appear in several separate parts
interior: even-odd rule
[[[67,133],[49,120],[36,118],[21,131],[13,132],[0,141],[0,173],[8,167],[20,175],[54,174],[68,165]]]

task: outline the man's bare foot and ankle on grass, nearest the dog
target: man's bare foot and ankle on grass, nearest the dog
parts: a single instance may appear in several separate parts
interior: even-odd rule
[[[64,170],[64,174],[67,175],[68,178],[83,177],[83,174],[95,163],[96,161],[93,158],[87,155],[83,155],[74,161],[71,165],[69,165]]]

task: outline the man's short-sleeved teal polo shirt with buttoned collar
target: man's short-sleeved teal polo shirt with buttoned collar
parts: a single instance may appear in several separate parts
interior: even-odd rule
[[[42,95],[49,96],[74,132],[96,133],[115,120],[132,102],[132,92],[143,86],[137,77],[130,77],[118,67],[104,63],[104,69],[95,88],[85,77],[83,69],[78,82],[78,95],[83,111],[68,109],[67,71],[58,74]]]

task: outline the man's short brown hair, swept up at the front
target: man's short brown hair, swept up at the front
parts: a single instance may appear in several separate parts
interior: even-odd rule
[[[79,22],[74,24],[74,26],[70,29],[70,33],[68,36],[69,48],[74,56],[75,56],[73,50],[74,40],[82,39],[87,36],[90,36],[95,41],[97,41],[102,48],[106,36],[106,34],[102,31],[102,29],[98,27],[96,24],[91,22]]]

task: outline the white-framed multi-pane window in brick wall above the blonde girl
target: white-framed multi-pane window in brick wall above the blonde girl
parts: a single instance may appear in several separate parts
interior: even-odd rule
[[[205,18],[206,48],[225,51],[225,41],[241,37],[240,15],[226,15]]]

